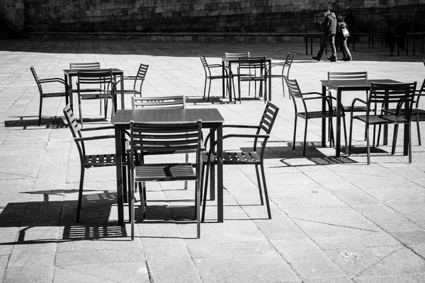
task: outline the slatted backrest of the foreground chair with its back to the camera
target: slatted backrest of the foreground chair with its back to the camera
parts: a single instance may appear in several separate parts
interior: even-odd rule
[[[130,146],[132,154],[169,154],[197,151],[197,163],[201,148],[202,122],[143,123],[130,121]]]

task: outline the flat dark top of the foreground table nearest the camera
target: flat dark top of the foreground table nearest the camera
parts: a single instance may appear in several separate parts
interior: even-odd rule
[[[202,120],[203,127],[211,124],[222,124],[225,119],[216,108],[191,109],[125,109],[117,110],[113,117],[113,125],[130,125],[135,122],[193,122]]]

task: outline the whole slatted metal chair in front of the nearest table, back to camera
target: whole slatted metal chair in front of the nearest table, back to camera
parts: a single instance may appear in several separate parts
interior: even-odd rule
[[[174,180],[195,180],[195,212],[197,238],[200,238],[200,150],[202,122],[152,124],[130,122],[129,156],[145,154],[170,154],[170,152],[196,151],[195,163],[141,163],[135,164],[130,158],[130,207],[131,207],[131,238],[134,239],[135,223],[135,183],[162,182]],[[195,168],[195,170],[193,170]],[[145,219],[145,188],[140,192],[140,207]]]

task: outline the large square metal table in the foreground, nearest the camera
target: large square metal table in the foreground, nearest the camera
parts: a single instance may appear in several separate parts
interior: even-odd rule
[[[223,221],[223,122],[225,119],[216,108],[190,108],[190,109],[135,109],[117,110],[112,124],[115,126],[115,153],[117,163],[117,201],[118,223],[124,224],[124,200],[123,200],[123,130],[130,129],[130,121],[169,123],[169,122],[192,122],[202,120],[202,127],[210,129],[212,144],[217,132],[217,221]],[[211,172],[211,194],[214,193],[214,171]],[[206,181],[206,180],[205,180]],[[212,195],[213,196],[213,195]],[[213,197],[212,197],[213,199]]]

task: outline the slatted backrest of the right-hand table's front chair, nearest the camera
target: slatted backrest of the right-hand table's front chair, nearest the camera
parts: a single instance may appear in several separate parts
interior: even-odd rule
[[[372,83],[369,91],[368,107],[389,108],[390,104],[397,105],[397,109],[403,110],[410,119],[410,113],[416,93],[416,81],[414,83]],[[402,108],[402,105],[404,107]]]

